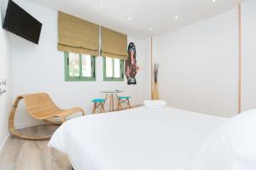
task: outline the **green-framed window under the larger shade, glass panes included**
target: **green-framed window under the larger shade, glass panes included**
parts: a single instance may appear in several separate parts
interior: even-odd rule
[[[95,57],[85,54],[65,54],[65,81],[96,81]]]

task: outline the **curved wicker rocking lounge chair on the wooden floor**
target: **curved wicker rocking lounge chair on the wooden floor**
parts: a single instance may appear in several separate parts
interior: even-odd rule
[[[17,129],[15,129],[15,112],[21,99],[24,99],[26,109],[32,117],[51,124],[60,125],[61,123],[66,122],[67,116],[73,115],[74,113],[79,111],[82,112],[82,116],[84,116],[84,110],[80,107],[74,107],[68,110],[61,110],[55,105],[52,99],[49,98],[48,94],[42,93],[20,95],[15,99],[15,103],[9,114],[9,130],[15,136],[20,137],[21,139],[42,140],[49,139],[51,137],[51,135],[45,137],[27,136],[26,134],[20,133]],[[55,117],[61,118],[61,123],[49,121],[49,119]]]

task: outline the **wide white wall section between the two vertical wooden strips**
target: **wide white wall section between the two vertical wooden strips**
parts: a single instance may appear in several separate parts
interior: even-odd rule
[[[154,37],[160,98],[172,107],[218,116],[237,112],[236,10]]]

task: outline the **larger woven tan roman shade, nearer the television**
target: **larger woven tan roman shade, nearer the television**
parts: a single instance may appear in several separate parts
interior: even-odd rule
[[[58,31],[58,50],[99,55],[99,26],[96,24],[59,12]]]

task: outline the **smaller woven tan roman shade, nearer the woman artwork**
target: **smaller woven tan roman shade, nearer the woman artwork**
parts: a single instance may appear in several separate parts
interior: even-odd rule
[[[127,59],[127,36],[102,27],[102,56]]]

